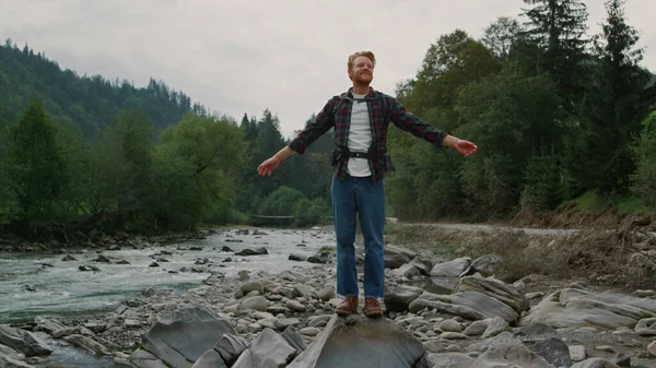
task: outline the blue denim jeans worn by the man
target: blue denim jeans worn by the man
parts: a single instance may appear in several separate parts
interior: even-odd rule
[[[364,237],[364,296],[385,293],[385,183],[371,177],[332,177],[332,216],[337,238],[337,294],[356,296],[355,216]]]

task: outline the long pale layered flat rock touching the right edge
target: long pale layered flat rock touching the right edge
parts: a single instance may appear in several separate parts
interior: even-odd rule
[[[616,330],[623,327],[634,328],[641,319],[654,313],[654,299],[564,288],[552,293],[532,307],[519,324],[542,322],[553,328],[595,327]]]

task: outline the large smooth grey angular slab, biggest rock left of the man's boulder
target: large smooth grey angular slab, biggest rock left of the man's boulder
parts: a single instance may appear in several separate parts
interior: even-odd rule
[[[190,368],[224,334],[236,334],[225,320],[200,308],[162,316],[143,336],[143,348],[173,368]]]

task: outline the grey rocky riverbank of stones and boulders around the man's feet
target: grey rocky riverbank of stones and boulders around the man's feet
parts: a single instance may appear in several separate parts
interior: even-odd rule
[[[0,367],[47,359],[52,348],[37,333],[125,367],[656,366],[653,290],[534,274],[508,284],[495,278],[495,256],[445,262],[388,245],[386,316],[338,318],[333,251],[321,249],[311,266],[294,259],[304,268],[218,270],[187,290],[147,288],[94,319],[4,325]]]

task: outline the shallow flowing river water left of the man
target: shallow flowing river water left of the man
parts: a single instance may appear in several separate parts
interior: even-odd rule
[[[260,232],[266,235],[253,235],[251,232],[245,235],[226,229],[204,239],[166,246],[103,250],[102,254],[113,263],[93,261],[99,256],[95,249],[71,252],[75,261],[63,261],[65,254],[61,253],[0,252],[0,324],[33,321],[37,316],[91,317],[116,309],[149,287],[173,292],[199,285],[209,276],[209,271],[236,276],[242,270],[277,274],[294,266],[309,266],[312,264],[307,262],[290,261],[290,254],[307,258],[321,247],[335,246],[335,237],[329,230]],[[223,247],[233,251],[222,251]],[[245,248],[259,247],[265,247],[268,254],[235,256]],[[150,266],[161,258],[168,262]],[[227,258],[232,261],[224,262]],[[117,260],[129,264],[116,264],[114,261]],[[211,263],[199,265],[197,260]],[[79,268],[83,265],[95,265],[99,271],[82,272]],[[183,268],[206,272],[180,272]],[[56,349],[44,367],[114,367],[110,360],[61,346],[56,341],[48,342]]]

